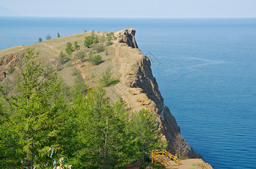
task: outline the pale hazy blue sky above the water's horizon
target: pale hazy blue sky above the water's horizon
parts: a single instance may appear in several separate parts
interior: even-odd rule
[[[256,17],[256,0],[0,0],[0,6],[21,16]]]

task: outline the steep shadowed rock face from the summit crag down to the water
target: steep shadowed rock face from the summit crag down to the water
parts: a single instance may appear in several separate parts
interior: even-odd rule
[[[147,56],[144,56],[140,51],[138,52],[140,57],[136,57],[136,55],[133,55],[138,51],[134,49],[138,48],[138,46],[136,45],[134,35],[134,29],[126,29],[124,33],[119,37],[120,39],[118,39],[119,43],[126,43],[127,46],[131,47],[129,51],[132,56],[128,60],[130,60],[130,62],[136,61],[136,65],[133,65],[133,68],[130,68],[135,68],[136,73],[134,75],[129,75],[129,77],[125,75],[125,77],[128,79],[125,83],[128,87],[140,88],[142,94],[146,94],[148,99],[152,100],[148,107],[151,109],[153,113],[156,114],[157,123],[161,127],[163,136],[165,137],[165,139],[169,141],[169,151],[175,154],[175,152],[173,152],[173,141],[175,135],[180,133],[180,127],[178,127],[176,119],[170,113],[169,108],[164,104],[164,99],[159,91],[156,78],[153,77],[152,74],[150,60],[148,59]],[[129,56],[126,55],[126,57]],[[129,69],[127,69],[127,71],[129,71]],[[125,98],[127,98],[127,96]],[[133,99],[126,99],[126,101],[128,102],[131,100]],[[136,109],[136,105],[131,107],[133,107],[133,109]],[[191,146],[188,146],[187,148],[190,149],[190,158],[202,158],[200,154],[194,152]]]

